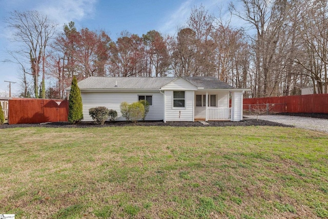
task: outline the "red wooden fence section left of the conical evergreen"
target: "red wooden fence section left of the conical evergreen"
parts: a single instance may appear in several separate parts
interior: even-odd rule
[[[67,122],[68,101],[61,99],[12,98],[8,124]]]

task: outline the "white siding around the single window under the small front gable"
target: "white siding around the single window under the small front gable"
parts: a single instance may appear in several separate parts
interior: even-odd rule
[[[194,91],[185,91],[185,107],[173,107],[173,91],[165,91],[166,121],[194,121]]]

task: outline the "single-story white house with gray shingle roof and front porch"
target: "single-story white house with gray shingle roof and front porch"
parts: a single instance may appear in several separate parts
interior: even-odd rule
[[[124,121],[120,104],[141,99],[150,104],[148,121],[240,121],[243,93],[249,91],[215,77],[88,77],[77,85],[83,121],[92,121],[89,109],[98,106],[116,110],[117,121]]]

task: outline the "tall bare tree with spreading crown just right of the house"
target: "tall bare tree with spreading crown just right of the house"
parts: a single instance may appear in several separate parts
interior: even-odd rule
[[[248,22],[255,30],[253,38],[255,61],[256,96],[270,95],[270,89],[276,84],[274,64],[277,63],[276,49],[280,41],[280,32],[286,17],[286,0],[241,0],[243,11],[233,4],[235,15]]]

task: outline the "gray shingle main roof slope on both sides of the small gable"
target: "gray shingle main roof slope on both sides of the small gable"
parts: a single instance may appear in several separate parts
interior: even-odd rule
[[[78,82],[80,90],[159,90],[177,77],[88,77]],[[216,77],[183,77],[204,89],[233,89]],[[116,86],[117,85],[117,86]]]

